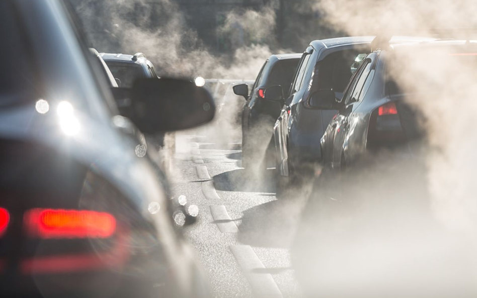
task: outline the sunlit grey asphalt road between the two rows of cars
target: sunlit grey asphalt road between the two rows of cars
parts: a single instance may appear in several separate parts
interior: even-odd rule
[[[171,182],[174,196],[199,206],[198,222],[184,229],[214,296],[300,296],[290,245],[301,199],[277,200],[274,169],[243,169],[240,139],[213,140],[176,135]]]

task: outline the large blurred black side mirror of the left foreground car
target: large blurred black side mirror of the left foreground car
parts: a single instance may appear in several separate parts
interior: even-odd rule
[[[132,88],[112,88],[122,116],[143,133],[193,128],[214,118],[212,95],[194,82],[172,78],[140,78]]]

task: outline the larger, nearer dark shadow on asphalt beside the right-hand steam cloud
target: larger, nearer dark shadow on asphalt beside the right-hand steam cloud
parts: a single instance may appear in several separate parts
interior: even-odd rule
[[[303,200],[271,201],[244,211],[238,241],[252,246],[289,248],[300,218]]]

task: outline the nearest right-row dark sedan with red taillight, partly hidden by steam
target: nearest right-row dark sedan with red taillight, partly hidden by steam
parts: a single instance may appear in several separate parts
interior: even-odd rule
[[[387,44],[385,44],[387,45]],[[466,41],[432,40],[419,44],[402,44],[380,47],[365,57],[355,75],[349,82],[342,100],[332,98],[330,90],[320,90],[311,96],[316,108],[338,110],[321,139],[323,166],[328,173],[339,173],[369,155],[375,155],[384,149],[406,149],[404,153],[416,157],[417,151],[410,143],[422,140],[425,131],[422,127],[423,115],[415,111],[404,99],[409,94],[393,80],[390,69],[395,67],[393,55],[401,51],[415,51],[417,55],[425,55],[426,51],[440,48],[455,49],[461,55],[454,60],[467,59],[469,63],[475,48],[466,45]],[[435,50],[435,51],[437,51]],[[441,55],[442,61],[445,55]],[[470,57],[470,58],[468,58]],[[397,58],[396,58],[397,59]],[[428,63],[425,57],[423,63]],[[412,77],[411,71],[409,76]],[[429,75],[429,74],[427,74]],[[434,76],[441,75],[438,72]],[[422,80],[421,85],[425,80]],[[431,90],[421,87],[421,92]],[[314,104],[311,104],[314,106]],[[403,153],[403,152],[402,152]]]

